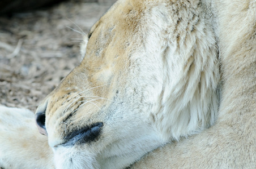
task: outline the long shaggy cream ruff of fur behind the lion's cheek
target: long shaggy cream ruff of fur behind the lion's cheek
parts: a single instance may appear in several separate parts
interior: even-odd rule
[[[182,3],[183,2],[183,3]],[[168,6],[164,88],[157,128],[164,140],[179,139],[214,123],[219,65],[216,39],[200,1]]]

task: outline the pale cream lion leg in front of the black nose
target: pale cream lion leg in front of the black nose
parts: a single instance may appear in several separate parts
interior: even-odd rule
[[[1,168],[54,168],[47,137],[30,110],[0,106],[0,136]]]

